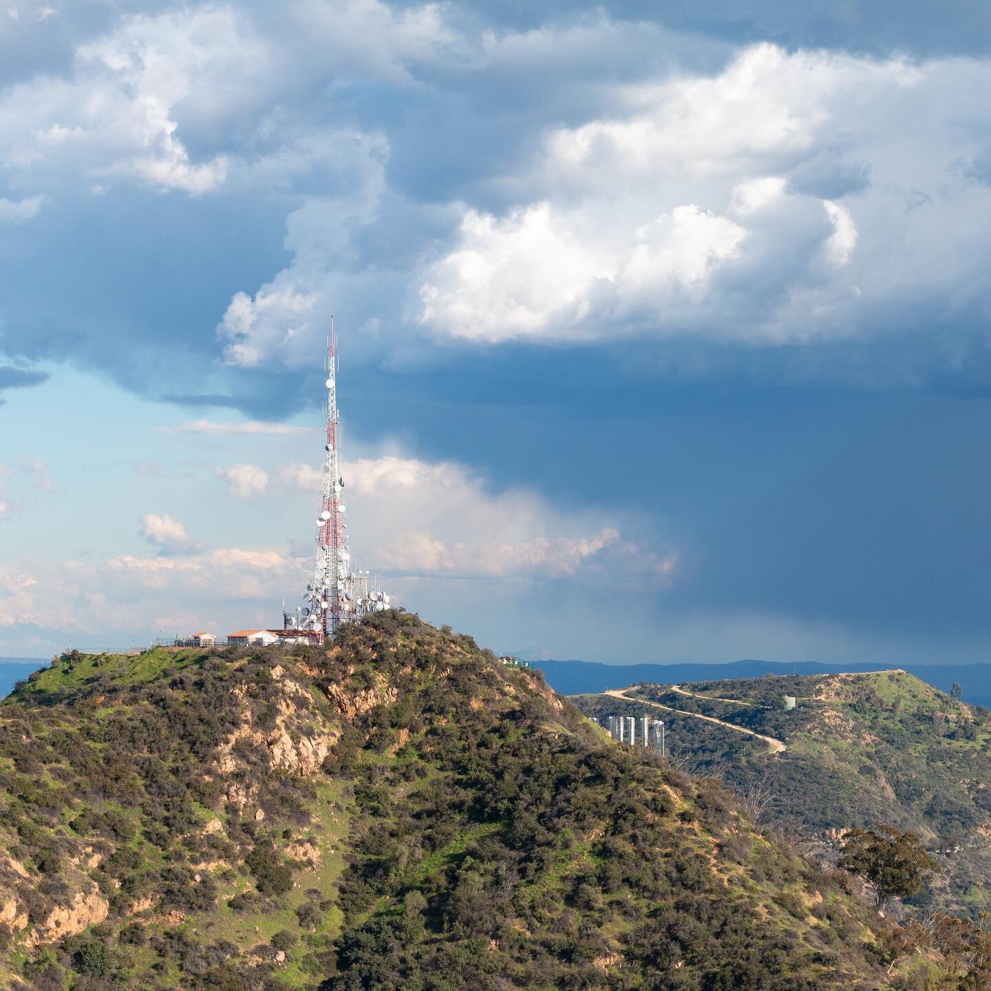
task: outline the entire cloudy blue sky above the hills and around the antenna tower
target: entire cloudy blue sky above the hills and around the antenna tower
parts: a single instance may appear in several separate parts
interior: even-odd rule
[[[986,5],[274,11],[0,14],[0,654],[277,622],[334,313],[403,606],[987,659]]]

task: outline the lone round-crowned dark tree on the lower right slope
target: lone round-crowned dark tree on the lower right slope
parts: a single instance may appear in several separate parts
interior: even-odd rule
[[[878,912],[893,898],[918,894],[939,867],[914,832],[894,826],[881,826],[877,832],[850,829],[843,836],[838,863],[871,888]]]

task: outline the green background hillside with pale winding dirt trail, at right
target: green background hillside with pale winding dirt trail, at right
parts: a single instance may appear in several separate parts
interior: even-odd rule
[[[630,714],[662,717],[657,706],[666,707],[673,747],[740,794],[759,789],[765,822],[783,820],[832,840],[851,826],[910,829],[943,865],[920,904],[974,914],[991,909],[986,710],[904,671],[765,676],[679,688],[637,686],[627,693],[631,701],[618,704]],[[790,712],[783,706],[786,695],[798,700]],[[605,697],[579,704],[590,713],[617,711],[617,700]],[[772,756],[752,737],[690,714],[780,739],[787,750]]]

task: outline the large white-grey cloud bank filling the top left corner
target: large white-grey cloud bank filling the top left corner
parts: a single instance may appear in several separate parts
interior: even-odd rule
[[[125,15],[80,41],[65,71],[0,94],[0,175],[53,193],[102,194],[126,179],[191,196],[229,182],[278,194],[307,170],[326,183],[320,159],[346,153],[348,135],[292,108],[305,104],[322,122],[325,99],[311,103],[335,82],[410,85],[410,66],[457,45],[432,4],[290,0],[277,15],[231,4]],[[0,199],[0,220],[29,219],[43,201]]]

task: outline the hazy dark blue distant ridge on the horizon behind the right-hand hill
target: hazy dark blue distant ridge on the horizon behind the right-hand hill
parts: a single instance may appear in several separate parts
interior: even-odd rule
[[[963,698],[974,706],[991,709],[991,663],[974,664],[823,664],[818,661],[741,660],[725,664],[601,664],[595,661],[534,661],[544,672],[547,684],[562,695],[584,695],[622,688],[641,681],[657,685],[682,682],[722,681],[732,678],[759,678],[761,675],[825,675],[901,668],[940,692],[948,692],[956,682]]]

